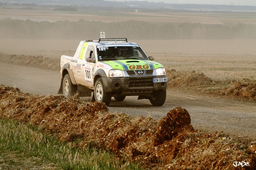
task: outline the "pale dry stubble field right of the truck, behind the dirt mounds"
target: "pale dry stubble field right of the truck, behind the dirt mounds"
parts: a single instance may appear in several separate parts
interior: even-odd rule
[[[195,71],[214,81],[256,79],[255,55],[152,55],[169,70]]]

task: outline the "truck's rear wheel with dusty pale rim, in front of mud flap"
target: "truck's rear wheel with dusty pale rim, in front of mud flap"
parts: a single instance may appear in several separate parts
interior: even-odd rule
[[[62,92],[63,95],[69,99],[72,96],[74,96],[76,94],[77,91],[77,85],[73,85],[70,79],[69,74],[66,74],[63,78],[63,82],[62,82]]]

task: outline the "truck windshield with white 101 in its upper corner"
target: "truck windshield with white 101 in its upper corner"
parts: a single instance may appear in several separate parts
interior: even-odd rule
[[[138,45],[133,46],[97,46],[99,61],[138,59],[148,60],[146,54]]]

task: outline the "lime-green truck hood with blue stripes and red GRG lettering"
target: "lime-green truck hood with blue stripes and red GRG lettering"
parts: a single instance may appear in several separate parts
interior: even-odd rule
[[[104,61],[103,63],[119,70],[153,70],[163,67],[162,64],[149,60],[112,60]]]

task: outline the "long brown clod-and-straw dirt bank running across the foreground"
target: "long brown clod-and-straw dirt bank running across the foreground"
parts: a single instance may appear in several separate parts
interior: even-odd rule
[[[104,103],[91,105],[78,96],[38,96],[0,85],[0,117],[41,125],[61,141],[111,150],[126,161],[155,169],[236,169],[234,161],[256,168],[256,145],[237,144],[224,133],[205,134],[190,124],[186,109],[173,108],[159,122],[150,116],[109,113]]]

